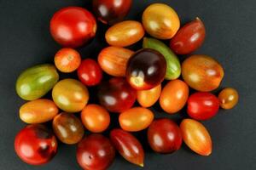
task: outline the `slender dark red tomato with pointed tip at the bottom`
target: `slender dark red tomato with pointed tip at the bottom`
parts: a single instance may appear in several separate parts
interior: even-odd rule
[[[115,149],[125,160],[143,167],[143,146],[131,133],[122,129],[113,129],[110,132],[110,139]]]

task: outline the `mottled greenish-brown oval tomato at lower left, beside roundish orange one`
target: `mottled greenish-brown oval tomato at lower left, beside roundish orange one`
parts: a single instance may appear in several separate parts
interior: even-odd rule
[[[71,113],[63,112],[55,116],[52,127],[57,138],[64,144],[76,144],[84,136],[82,122]]]

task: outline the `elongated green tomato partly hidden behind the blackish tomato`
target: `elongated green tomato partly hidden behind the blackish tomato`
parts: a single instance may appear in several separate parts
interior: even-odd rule
[[[143,48],[151,48],[154,49],[160,54],[163,54],[166,58],[166,79],[167,80],[174,80],[181,74],[181,66],[180,62],[177,59],[177,55],[172,52],[170,48],[166,46],[165,43],[160,42],[154,38],[144,37],[143,39]]]

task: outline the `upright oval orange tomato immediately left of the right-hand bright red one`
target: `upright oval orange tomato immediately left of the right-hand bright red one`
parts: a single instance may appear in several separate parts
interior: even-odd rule
[[[189,87],[181,80],[172,80],[163,88],[160,106],[167,113],[176,113],[183,109],[189,97]]]

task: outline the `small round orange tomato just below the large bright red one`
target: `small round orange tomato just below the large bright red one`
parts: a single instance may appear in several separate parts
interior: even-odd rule
[[[61,48],[55,54],[55,66],[61,72],[73,72],[79,68],[81,56],[73,48]]]

